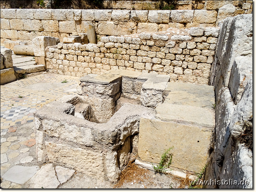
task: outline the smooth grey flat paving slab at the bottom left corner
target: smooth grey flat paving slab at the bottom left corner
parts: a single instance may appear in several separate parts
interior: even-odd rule
[[[26,167],[15,165],[4,173],[3,179],[22,185],[35,175],[38,169],[38,166]]]

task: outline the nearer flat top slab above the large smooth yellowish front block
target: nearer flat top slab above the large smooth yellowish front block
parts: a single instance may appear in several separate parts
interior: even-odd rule
[[[210,128],[215,125],[215,117],[210,110],[195,106],[160,104],[156,107],[156,118]]]

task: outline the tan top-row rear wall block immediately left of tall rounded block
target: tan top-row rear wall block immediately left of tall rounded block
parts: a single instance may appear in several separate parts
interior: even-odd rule
[[[217,12],[215,10],[195,10],[194,23],[215,23],[217,19]]]

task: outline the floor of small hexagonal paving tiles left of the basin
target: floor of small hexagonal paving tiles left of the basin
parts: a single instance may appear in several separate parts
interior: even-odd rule
[[[61,83],[67,79],[67,83]],[[22,188],[4,180],[15,165],[38,166],[33,112],[63,95],[76,94],[79,77],[45,73],[1,85],[1,188]]]

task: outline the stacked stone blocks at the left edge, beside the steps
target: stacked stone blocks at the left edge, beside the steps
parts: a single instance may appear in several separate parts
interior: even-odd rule
[[[16,80],[14,75],[14,69],[12,67],[12,50],[7,49],[3,46],[0,47],[1,54],[0,54],[0,72],[1,72],[1,85],[5,83],[9,83]]]

